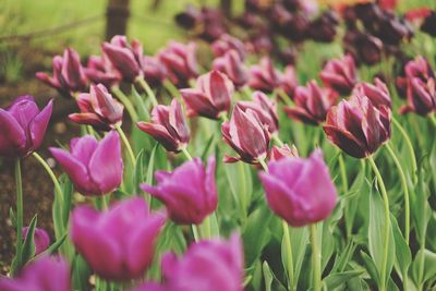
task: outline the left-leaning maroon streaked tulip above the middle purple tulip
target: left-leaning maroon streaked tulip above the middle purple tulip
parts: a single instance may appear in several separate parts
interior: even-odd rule
[[[172,99],[170,106],[155,106],[152,122],[141,121],[136,125],[169,151],[179,153],[190,142],[190,129],[177,99]]]

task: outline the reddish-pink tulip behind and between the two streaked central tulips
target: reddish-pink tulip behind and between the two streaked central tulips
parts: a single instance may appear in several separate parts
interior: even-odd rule
[[[219,119],[230,109],[234,92],[232,82],[219,71],[211,71],[197,78],[195,88],[181,89],[186,104],[187,116]]]

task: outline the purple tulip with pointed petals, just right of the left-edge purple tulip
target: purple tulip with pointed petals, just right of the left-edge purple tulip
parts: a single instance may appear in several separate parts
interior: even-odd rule
[[[70,153],[55,147],[50,151],[83,195],[102,195],[121,185],[123,161],[114,131],[99,142],[92,135],[73,138]]]

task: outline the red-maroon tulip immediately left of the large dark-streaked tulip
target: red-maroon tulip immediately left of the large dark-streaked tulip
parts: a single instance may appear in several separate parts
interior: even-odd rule
[[[326,120],[328,110],[336,104],[338,94],[330,88],[320,88],[315,81],[305,87],[295,88],[293,101],[295,107],[284,107],[289,118],[307,123],[320,124]]]

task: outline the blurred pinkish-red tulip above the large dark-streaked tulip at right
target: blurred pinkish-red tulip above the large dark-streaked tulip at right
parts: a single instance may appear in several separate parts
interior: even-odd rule
[[[340,94],[349,94],[358,82],[355,64],[349,54],[327,62],[319,77],[324,85]]]

